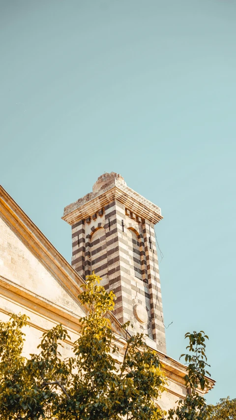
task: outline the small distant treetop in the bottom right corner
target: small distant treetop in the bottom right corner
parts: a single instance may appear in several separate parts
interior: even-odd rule
[[[221,398],[216,405],[209,405],[207,420],[235,420],[236,398]]]

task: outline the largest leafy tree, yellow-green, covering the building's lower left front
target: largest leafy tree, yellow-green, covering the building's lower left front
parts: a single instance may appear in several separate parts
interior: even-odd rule
[[[118,360],[117,337],[106,316],[115,295],[99,285],[99,277],[89,276],[79,299],[89,313],[67,359],[60,347],[70,337],[61,325],[45,332],[39,353],[26,359],[22,327],[27,317],[12,315],[0,323],[1,420],[162,419],[154,403],[165,385],[157,354],[137,334],[127,339]]]

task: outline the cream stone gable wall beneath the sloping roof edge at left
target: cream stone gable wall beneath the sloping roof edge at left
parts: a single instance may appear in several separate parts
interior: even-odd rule
[[[33,301],[29,301],[29,293]],[[37,303],[40,298],[43,298],[44,307]],[[57,313],[47,310],[47,304],[55,305]],[[66,319],[58,315],[63,312],[70,316]],[[78,336],[78,319],[85,315],[78,299],[65,290],[57,276],[33,255],[22,238],[0,215],[0,320],[8,320],[11,313],[26,314],[29,317],[29,325],[24,329],[24,356],[38,352],[37,346],[43,332],[58,323],[64,324],[72,341],[75,341]],[[70,321],[71,316],[76,324]],[[62,355],[68,356],[70,349],[70,343],[64,343]]]

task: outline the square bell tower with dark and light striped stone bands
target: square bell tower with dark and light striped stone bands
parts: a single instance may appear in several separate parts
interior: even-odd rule
[[[166,353],[154,231],[160,208],[111,172],[98,178],[92,193],[65,207],[62,219],[72,227],[75,270],[84,279],[92,271],[102,277],[117,296],[117,319],[130,320],[134,331],[148,334],[150,346]]]

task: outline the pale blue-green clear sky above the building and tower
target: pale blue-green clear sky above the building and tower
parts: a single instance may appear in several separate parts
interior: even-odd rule
[[[0,182],[70,261],[104,171],[159,205],[167,350],[204,329],[236,397],[236,2],[0,0]]]

